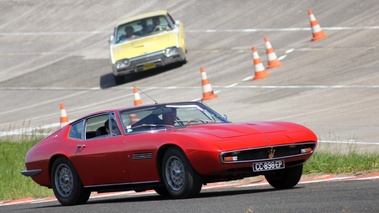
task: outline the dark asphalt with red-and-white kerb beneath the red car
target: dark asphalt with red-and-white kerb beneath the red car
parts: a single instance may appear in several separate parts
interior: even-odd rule
[[[291,190],[262,179],[209,184],[193,199],[163,199],[154,191],[92,194],[86,205],[55,198],[0,202],[0,212],[376,212],[379,174],[305,177]]]

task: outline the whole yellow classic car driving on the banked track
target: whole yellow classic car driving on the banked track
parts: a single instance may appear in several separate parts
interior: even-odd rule
[[[109,44],[116,84],[130,73],[187,61],[183,24],[166,10],[120,21]]]

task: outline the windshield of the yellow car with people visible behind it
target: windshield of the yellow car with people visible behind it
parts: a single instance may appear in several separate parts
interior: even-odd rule
[[[144,18],[118,26],[115,32],[115,43],[121,43],[169,30],[172,30],[172,25],[163,15]]]

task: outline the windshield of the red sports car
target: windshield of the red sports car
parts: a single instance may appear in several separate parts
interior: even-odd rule
[[[126,132],[228,122],[201,103],[165,104],[125,110],[120,116]]]

